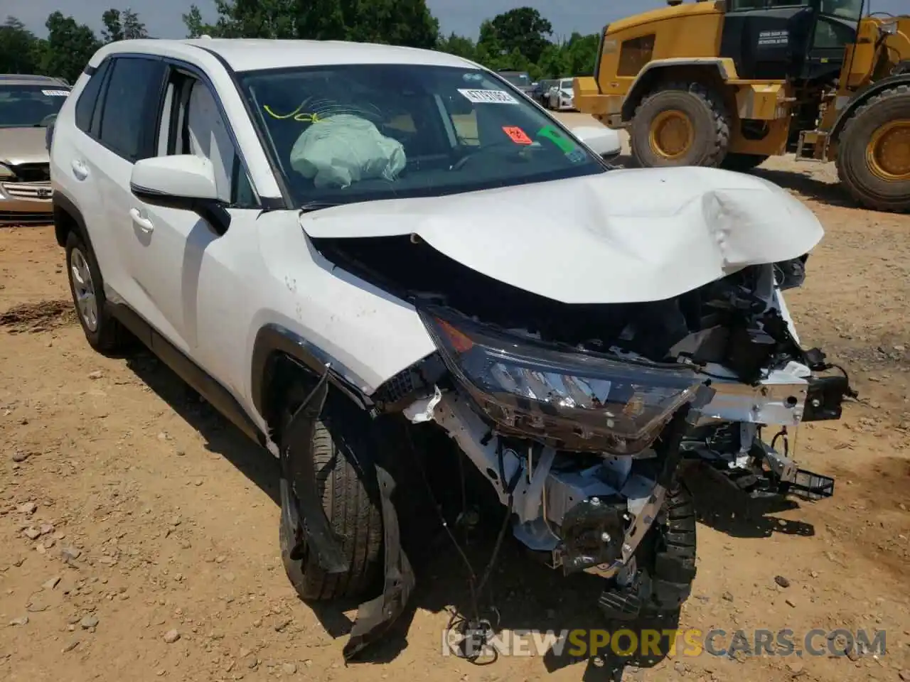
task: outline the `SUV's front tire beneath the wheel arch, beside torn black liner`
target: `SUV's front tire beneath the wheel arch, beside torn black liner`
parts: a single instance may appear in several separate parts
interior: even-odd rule
[[[302,386],[292,389],[282,416],[282,431],[286,430],[284,426],[304,395]],[[327,573],[306,547],[301,556],[291,556],[300,532],[299,516],[290,483],[284,477],[281,479],[281,559],[288,579],[305,601],[359,597],[381,567],[379,496],[375,480],[358,470],[373,471],[374,451],[369,433],[369,416],[343,396],[329,391],[311,446],[322,506],[329,524],[341,538],[341,547],[349,562],[347,573]],[[282,452],[288,445],[282,440]]]

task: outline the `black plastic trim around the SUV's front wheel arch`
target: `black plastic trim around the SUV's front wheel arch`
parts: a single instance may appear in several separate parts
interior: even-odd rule
[[[329,367],[328,381],[335,388],[347,395],[362,409],[371,411],[374,408],[369,394],[374,387],[369,386],[348,367],[330,356],[319,346],[308,342],[305,338],[291,331],[285,326],[275,323],[259,328],[256,340],[253,342],[253,355],[250,363],[250,388],[253,397],[253,406],[269,424],[274,426],[278,416],[276,396],[272,390],[274,381],[278,378],[278,359],[287,357],[300,369],[307,372],[314,380],[318,380]]]

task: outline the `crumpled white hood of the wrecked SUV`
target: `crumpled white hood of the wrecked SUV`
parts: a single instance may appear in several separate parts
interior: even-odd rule
[[[679,296],[803,256],[824,235],[784,189],[701,167],[349,204],[300,222],[313,238],[417,235],[463,266],[569,304]]]

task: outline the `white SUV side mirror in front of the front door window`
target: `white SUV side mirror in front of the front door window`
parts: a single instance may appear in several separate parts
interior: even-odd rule
[[[133,166],[129,188],[152,206],[197,213],[218,235],[230,225],[230,214],[218,199],[215,168],[207,158],[187,154],[141,159]]]

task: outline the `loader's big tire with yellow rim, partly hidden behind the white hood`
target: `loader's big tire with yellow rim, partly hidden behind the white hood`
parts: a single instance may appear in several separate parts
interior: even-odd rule
[[[682,143],[677,140],[673,144],[672,130],[682,133]],[[720,95],[704,85],[670,83],[642,99],[635,109],[630,132],[632,155],[642,167],[716,168],[730,147],[730,114]]]

